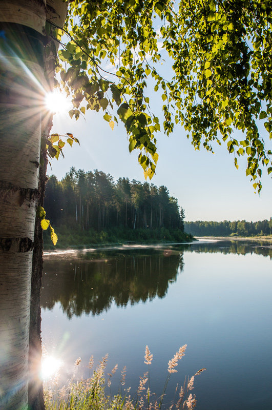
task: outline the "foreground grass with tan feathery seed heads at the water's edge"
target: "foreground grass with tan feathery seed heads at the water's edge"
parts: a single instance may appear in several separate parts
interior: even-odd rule
[[[186,376],[181,387],[176,388],[171,403],[165,403],[165,392],[170,380],[171,374],[176,373],[176,367],[181,358],[185,355],[186,345],[179,348],[168,363],[168,373],[162,392],[156,397],[150,387],[150,373],[153,355],[148,346],[145,347],[144,363],[147,364],[148,370],[139,378],[139,386],[135,397],[130,394],[130,387],[125,388],[126,368],[120,373],[120,387],[115,395],[106,393],[106,389],[111,385],[112,377],[117,373],[118,365],[116,364],[112,371],[105,375],[108,356],[104,357],[95,370],[93,370],[93,358],[90,359],[89,368],[92,376],[88,379],[77,380],[78,367],[80,358],[75,362],[73,378],[67,386],[57,388],[57,378],[55,377],[49,384],[45,383],[45,405],[46,410],[160,410],[161,408],[177,410],[192,410],[196,406],[196,396],[192,394],[194,388],[195,376],[202,373],[205,368],[200,369],[192,377]],[[116,376],[116,375],[115,375]],[[169,398],[168,398],[169,401]]]

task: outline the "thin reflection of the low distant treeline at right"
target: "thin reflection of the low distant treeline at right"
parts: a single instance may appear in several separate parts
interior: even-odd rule
[[[197,243],[191,245],[190,251],[204,253],[235,253],[239,255],[263,255],[272,259],[272,244],[263,241],[218,241],[210,243]]]

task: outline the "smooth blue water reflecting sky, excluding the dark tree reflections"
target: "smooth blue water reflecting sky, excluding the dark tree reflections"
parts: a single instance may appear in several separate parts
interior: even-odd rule
[[[98,363],[109,353],[107,372],[116,362],[119,370],[127,365],[127,386],[134,388],[146,370],[143,356],[148,344],[154,354],[151,388],[159,394],[169,359],[186,343],[186,356],[172,375],[169,398],[185,375],[206,367],[193,391],[198,409],[270,410],[270,257],[224,254],[223,249],[199,253],[198,248],[194,244],[193,252],[184,252],[183,271],[176,281],[168,281],[164,298],[156,296],[125,308],[113,302],[107,312],[71,320],[62,313],[60,302],[51,311],[43,309],[43,342],[70,363],[63,380],[72,373],[78,356],[80,371],[87,377],[90,356]],[[112,391],[118,389],[119,378],[120,374],[114,376]]]

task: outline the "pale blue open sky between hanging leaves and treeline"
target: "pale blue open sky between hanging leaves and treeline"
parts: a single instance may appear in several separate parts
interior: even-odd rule
[[[137,152],[129,153],[129,142],[123,124],[119,121],[112,131],[103,113],[86,112],[77,121],[66,113],[55,114],[52,133],[73,133],[80,146],[65,146],[65,158],[51,160],[48,175],[61,179],[70,167],[110,173],[114,180],[128,177],[144,182],[143,170],[138,164]],[[164,185],[185,210],[185,220],[238,220],[257,221],[272,216],[272,181],[263,171],[260,196],[254,193],[252,182],[245,175],[246,161],[228,154],[226,145],[215,144],[215,154],[204,148],[195,151],[179,126],[167,137],[157,133],[159,160],[156,175],[151,182]]]

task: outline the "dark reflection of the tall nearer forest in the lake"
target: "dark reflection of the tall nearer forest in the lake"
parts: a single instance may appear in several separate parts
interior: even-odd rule
[[[67,316],[97,315],[115,302],[126,306],[163,298],[183,269],[182,252],[86,253],[46,258],[41,307],[60,302]]]

